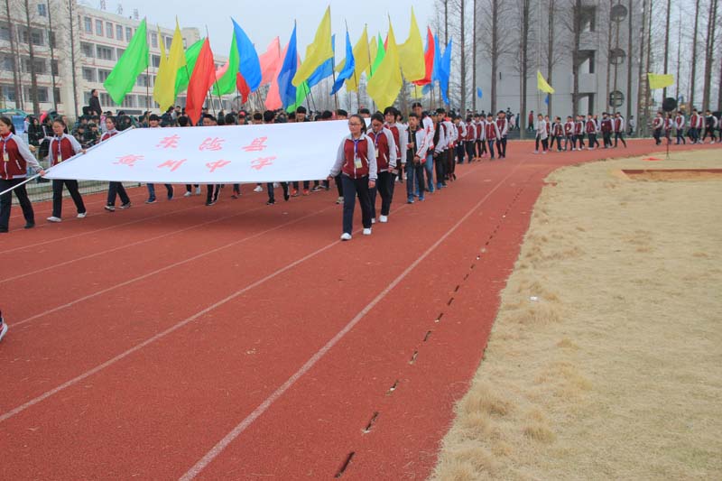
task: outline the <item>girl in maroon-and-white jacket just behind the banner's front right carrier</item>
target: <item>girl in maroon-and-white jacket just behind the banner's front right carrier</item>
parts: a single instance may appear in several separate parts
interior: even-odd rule
[[[388,222],[393,199],[393,174],[396,169],[396,142],[393,133],[384,127],[384,116],[375,113],[371,116],[371,132],[368,136],[374,141],[376,154],[376,186],[369,190],[371,196],[371,223],[376,219],[376,191],[381,195],[381,217],[379,221]]]

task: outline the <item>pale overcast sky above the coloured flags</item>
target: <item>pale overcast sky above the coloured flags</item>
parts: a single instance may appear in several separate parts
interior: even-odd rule
[[[94,8],[100,6],[99,0],[85,0],[81,3]],[[412,5],[424,39],[426,25],[430,22],[433,10],[433,0],[106,0],[107,11],[116,13],[119,3],[123,5],[125,16],[132,15],[137,8],[141,18],[147,16],[149,23],[159,23],[168,28],[173,27],[176,15],[181,28],[198,27],[201,36],[205,36],[208,25],[211,48],[224,57],[228,54],[231,42],[233,24],[230,17],[236,19],[245,30],[259,54],[266,50],[276,36],[280,36],[282,45],[285,45],[291,36],[295,20],[298,23],[298,48],[303,57],[306,46],[313,41],[313,35],[326,7],[330,5],[331,29],[337,35],[336,52],[340,59],[344,56],[345,49],[345,22],[348,23],[351,42],[356,43],[366,23],[369,36],[377,32],[384,36],[388,30],[390,15],[396,42],[401,43],[409,34]]]

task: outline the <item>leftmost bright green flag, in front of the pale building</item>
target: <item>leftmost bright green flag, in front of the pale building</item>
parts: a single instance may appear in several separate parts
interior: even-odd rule
[[[103,82],[103,87],[117,105],[122,105],[125,95],[133,89],[135,80],[147,68],[148,39],[145,32],[145,19],[143,19],[128,43],[128,48],[118,59],[116,67]]]

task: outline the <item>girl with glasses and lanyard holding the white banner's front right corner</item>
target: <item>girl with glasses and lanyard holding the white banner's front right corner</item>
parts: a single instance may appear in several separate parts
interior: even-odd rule
[[[348,117],[348,134],[338,146],[336,162],[329,173],[332,180],[339,173],[344,185],[343,234],[341,240],[351,240],[354,231],[356,196],[361,206],[364,236],[371,235],[371,199],[369,190],[376,186],[376,156],[374,141],[366,135],[366,122],[361,116]]]

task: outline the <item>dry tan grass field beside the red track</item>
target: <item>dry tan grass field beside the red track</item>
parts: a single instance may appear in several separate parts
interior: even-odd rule
[[[433,479],[722,479],[722,150],[650,167],[549,176]]]

